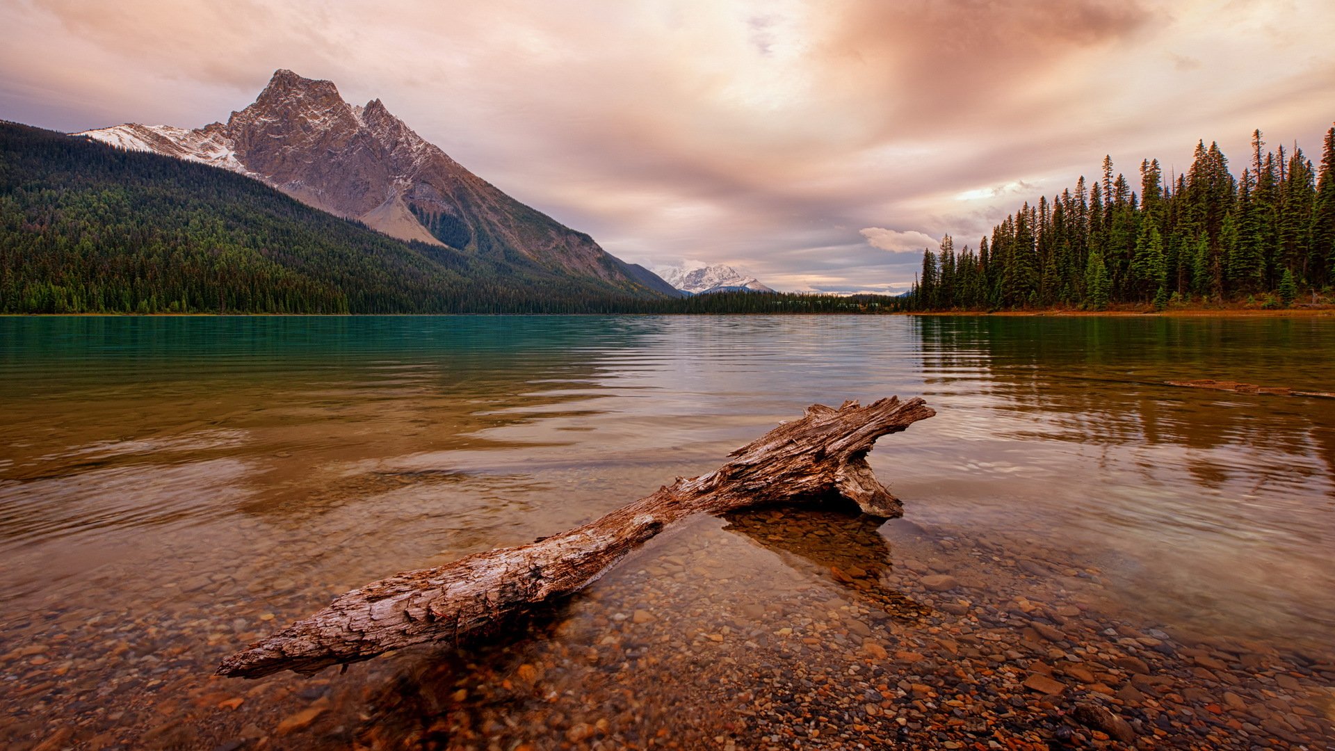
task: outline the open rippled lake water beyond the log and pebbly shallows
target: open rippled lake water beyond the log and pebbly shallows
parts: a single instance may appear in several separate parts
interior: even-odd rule
[[[1335,400],[1165,384],[1197,378],[1335,390],[1335,322],[0,318],[0,655],[68,619],[13,682],[152,699],[334,593],[890,394],[939,413],[872,454],[906,518],[1093,560],[1159,625],[1330,643]],[[71,691],[56,715],[112,703]]]

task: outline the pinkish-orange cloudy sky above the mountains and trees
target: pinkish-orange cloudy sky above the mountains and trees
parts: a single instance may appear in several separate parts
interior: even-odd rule
[[[199,127],[290,68],[626,261],[898,293],[1105,154],[1319,159],[1332,37],[1330,0],[0,0],[0,119]]]

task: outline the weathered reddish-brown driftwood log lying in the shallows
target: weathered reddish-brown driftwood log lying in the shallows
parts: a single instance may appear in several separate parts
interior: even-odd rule
[[[602,518],[515,548],[396,573],[335,599],[314,616],[224,659],[218,673],[260,678],[283,669],[310,675],[336,664],[426,641],[453,641],[566,597],[674,521],[708,512],[777,504],[853,501],[864,513],[904,509],[872,474],[876,438],[936,414],[922,400],[897,397],[840,409],[813,405],[733,452],[709,474],[670,486]]]

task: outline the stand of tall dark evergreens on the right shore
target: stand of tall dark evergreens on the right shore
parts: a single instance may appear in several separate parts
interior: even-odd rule
[[[1290,305],[1335,283],[1335,127],[1320,166],[1295,144],[1266,151],[1252,134],[1242,178],[1218,143],[1196,144],[1191,168],[1164,179],[1140,163],[1140,190],[1104,158],[1101,180],[1037,206],[1028,202],[956,251],[947,235],[922,254],[922,270],[898,307],[1000,310],[1112,303]]]

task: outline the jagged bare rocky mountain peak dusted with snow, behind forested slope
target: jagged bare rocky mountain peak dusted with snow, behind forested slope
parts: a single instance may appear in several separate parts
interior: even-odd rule
[[[348,104],[334,83],[276,71],[255,103],[196,130],[129,123],[81,134],[222,167],[390,237],[643,295],[678,293],[587,234],[519,203],[427,143],[379,99]]]

